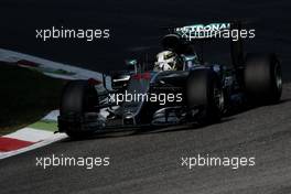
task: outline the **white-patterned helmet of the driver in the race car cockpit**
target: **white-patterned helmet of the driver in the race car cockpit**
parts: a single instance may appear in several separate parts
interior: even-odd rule
[[[153,71],[176,71],[177,69],[177,54],[172,51],[163,51],[157,54],[157,62],[154,62]]]

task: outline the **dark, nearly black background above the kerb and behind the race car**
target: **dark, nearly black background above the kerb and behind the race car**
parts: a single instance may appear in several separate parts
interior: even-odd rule
[[[244,20],[256,29],[247,51],[277,52],[284,78],[290,77],[291,3],[288,0],[244,2],[230,0],[1,0],[0,47],[85,68],[122,69],[125,60],[152,57],[161,50],[163,26],[204,21]],[[110,29],[109,40],[35,39],[35,29]],[[227,47],[228,48],[228,47]],[[226,50],[228,51],[228,50]],[[205,51],[226,55],[219,46]],[[213,54],[212,54],[213,53]]]

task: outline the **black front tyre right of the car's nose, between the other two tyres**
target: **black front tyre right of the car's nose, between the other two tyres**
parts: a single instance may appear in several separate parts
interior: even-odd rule
[[[191,72],[186,101],[190,110],[198,110],[194,116],[198,123],[218,122],[224,110],[224,93],[216,73],[206,68]]]

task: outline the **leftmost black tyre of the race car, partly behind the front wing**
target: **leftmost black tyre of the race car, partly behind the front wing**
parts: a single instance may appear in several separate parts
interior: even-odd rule
[[[61,97],[60,116],[83,117],[87,112],[98,112],[98,94],[94,85],[87,80],[72,80],[66,84]],[[89,133],[83,131],[79,125],[64,126],[63,130],[72,138],[82,138]]]

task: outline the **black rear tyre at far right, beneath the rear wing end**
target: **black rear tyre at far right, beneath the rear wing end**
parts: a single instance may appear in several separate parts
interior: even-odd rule
[[[282,94],[281,65],[274,54],[248,54],[244,73],[245,89],[255,103],[276,104]]]

